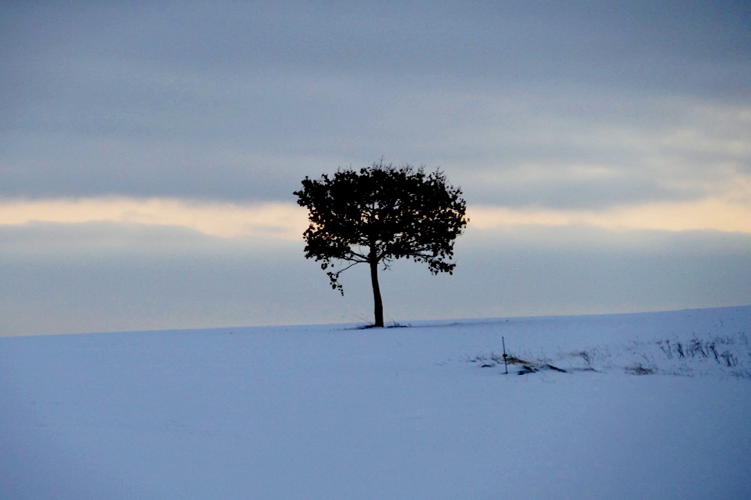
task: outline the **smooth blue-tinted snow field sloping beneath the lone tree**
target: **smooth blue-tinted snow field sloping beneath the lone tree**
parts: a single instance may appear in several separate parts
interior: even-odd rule
[[[2,338],[0,498],[751,498],[751,306],[353,326]]]

